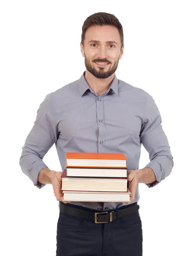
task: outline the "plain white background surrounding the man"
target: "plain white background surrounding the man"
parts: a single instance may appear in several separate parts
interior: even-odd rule
[[[85,71],[81,29],[95,12],[122,23],[125,50],[116,76],[153,96],[173,154],[169,177],[153,188],[139,184],[143,256],[192,255],[191,2],[0,2],[1,255],[56,255],[59,209],[52,186],[33,186],[19,158],[45,95]],[[55,145],[44,161],[62,171]],[[142,146],[139,169],[148,162]]]

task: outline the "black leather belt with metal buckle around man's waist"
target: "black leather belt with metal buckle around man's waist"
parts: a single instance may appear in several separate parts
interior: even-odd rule
[[[61,202],[59,202],[59,209],[60,209],[60,212],[63,212],[65,214],[73,215],[79,218],[85,218],[87,220],[93,220],[95,221],[95,223],[107,223],[109,221],[114,221],[116,219],[119,219],[121,217],[124,217],[133,212],[138,211],[139,205],[136,202],[120,210],[119,208],[117,208],[114,211],[109,211],[109,212],[93,212],[94,210],[90,211],[90,210],[78,209],[78,208],[70,207],[65,204],[61,204]]]

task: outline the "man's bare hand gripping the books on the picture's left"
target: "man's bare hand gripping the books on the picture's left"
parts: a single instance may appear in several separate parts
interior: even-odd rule
[[[62,172],[56,172],[51,178],[51,184],[54,189],[54,195],[57,201],[63,200],[63,193],[62,193]],[[63,203],[69,203],[69,201],[62,201]]]

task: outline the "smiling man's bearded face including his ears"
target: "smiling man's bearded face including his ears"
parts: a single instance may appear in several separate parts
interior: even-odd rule
[[[123,54],[121,38],[115,26],[91,26],[80,43],[86,69],[97,78],[108,78],[117,69]]]

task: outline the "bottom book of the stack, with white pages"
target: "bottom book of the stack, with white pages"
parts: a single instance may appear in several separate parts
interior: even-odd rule
[[[130,203],[130,191],[127,192],[88,192],[63,191],[63,201],[82,202],[125,202]]]

